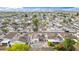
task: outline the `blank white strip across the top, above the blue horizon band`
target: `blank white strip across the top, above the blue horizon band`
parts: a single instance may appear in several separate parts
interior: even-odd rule
[[[79,0],[0,0],[0,7],[67,7],[79,6]]]

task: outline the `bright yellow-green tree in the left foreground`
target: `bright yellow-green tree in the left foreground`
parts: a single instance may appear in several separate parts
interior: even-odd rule
[[[18,44],[15,43],[9,48],[6,48],[8,51],[28,51],[31,47],[28,44]]]

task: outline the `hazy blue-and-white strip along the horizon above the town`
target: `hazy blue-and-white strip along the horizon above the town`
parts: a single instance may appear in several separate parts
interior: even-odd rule
[[[79,11],[79,7],[21,7],[21,8],[10,8],[0,7],[0,12],[33,12],[33,11]]]

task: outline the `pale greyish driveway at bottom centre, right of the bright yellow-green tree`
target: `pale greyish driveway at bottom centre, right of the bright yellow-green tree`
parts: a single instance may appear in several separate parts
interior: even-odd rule
[[[52,51],[53,48],[49,47],[47,42],[37,42],[34,44],[31,44],[31,50],[30,51]]]

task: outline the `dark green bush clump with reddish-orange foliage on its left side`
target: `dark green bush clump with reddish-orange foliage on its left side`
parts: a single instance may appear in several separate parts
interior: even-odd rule
[[[60,50],[60,51],[73,51],[75,50],[74,48],[74,44],[76,42],[72,39],[65,39],[64,42],[58,44],[58,45],[55,45],[55,49],[56,50]]]

